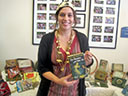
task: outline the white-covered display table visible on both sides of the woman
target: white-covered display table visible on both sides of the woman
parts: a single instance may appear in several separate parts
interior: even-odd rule
[[[5,71],[2,71],[2,77],[6,81]],[[39,87],[39,85],[38,85],[34,89],[18,93],[16,91],[16,84],[10,85],[9,82],[7,82],[7,83],[9,85],[9,88],[10,88],[11,92],[12,92],[11,96],[36,96],[37,91],[38,91],[38,87]],[[85,83],[89,84],[88,81],[85,81]],[[115,87],[115,86],[111,85],[110,83],[108,83],[108,88],[93,87],[93,86],[89,85],[89,87],[87,87],[86,90],[87,90],[87,95],[86,96],[124,96],[121,93],[121,91],[123,90],[122,88]]]

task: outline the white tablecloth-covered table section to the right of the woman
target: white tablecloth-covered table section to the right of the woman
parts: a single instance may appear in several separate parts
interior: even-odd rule
[[[88,83],[86,81],[86,83]],[[89,84],[89,83],[88,83]],[[124,96],[122,92],[122,88],[116,87],[108,83],[108,88],[105,87],[93,87],[89,85],[87,87],[87,96]]]

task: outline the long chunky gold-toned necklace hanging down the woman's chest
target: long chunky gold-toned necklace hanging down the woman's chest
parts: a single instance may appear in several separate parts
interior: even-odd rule
[[[69,61],[66,59],[65,62],[63,62],[63,60],[62,60],[62,52],[60,51],[61,46],[60,46],[60,40],[59,40],[59,34],[58,33],[59,33],[59,30],[57,30],[57,32],[56,32],[56,36],[57,36],[57,40],[56,40],[56,43],[57,43],[57,58],[56,58],[56,61],[61,66],[60,70],[64,71],[65,66],[66,66],[67,63],[69,63]],[[70,55],[69,50],[71,49],[72,38],[73,38],[73,34],[72,34],[72,31],[71,31],[69,41],[67,42],[68,43],[67,49],[66,49],[66,55],[67,56]]]

